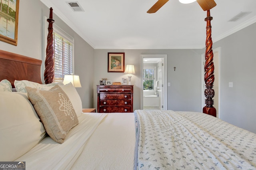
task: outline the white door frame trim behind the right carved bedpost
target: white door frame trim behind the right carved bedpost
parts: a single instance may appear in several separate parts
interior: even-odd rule
[[[221,112],[220,112],[220,71],[221,71],[221,65],[220,65],[220,59],[221,59],[221,47],[218,47],[218,48],[215,48],[212,50],[212,52],[218,52],[218,118],[221,119]],[[201,60],[202,60],[202,69],[201,69],[201,91],[202,91],[202,100],[201,100],[201,103],[202,103],[202,108],[205,106],[205,96],[204,96],[204,89],[205,89],[205,82],[204,82],[204,63],[205,63],[205,54],[203,53],[201,55]],[[214,57],[214,56],[213,56]],[[215,69],[215,68],[214,68]],[[201,108],[201,109],[202,109]]]

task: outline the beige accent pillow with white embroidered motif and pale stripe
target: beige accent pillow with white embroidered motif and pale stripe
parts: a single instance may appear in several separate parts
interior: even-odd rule
[[[46,132],[63,143],[68,131],[78,124],[73,105],[59,85],[50,90],[26,87],[28,98],[40,117]]]

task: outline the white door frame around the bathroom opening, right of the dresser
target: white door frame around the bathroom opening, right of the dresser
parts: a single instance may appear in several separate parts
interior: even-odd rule
[[[140,109],[143,109],[143,59],[144,58],[162,58],[163,59],[163,74],[162,76],[162,81],[163,81],[163,103],[164,103],[164,108],[163,110],[167,110],[167,54],[141,54],[141,70],[140,70]]]

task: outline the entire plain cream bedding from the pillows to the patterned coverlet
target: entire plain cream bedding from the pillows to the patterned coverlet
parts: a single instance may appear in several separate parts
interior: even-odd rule
[[[26,170],[132,170],[134,113],[84,113],[64,143],[49,136],[16,161]]]

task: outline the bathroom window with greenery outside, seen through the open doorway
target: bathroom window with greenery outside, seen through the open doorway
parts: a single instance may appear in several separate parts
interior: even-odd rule
[[[143,69],[143,90],[154,90],[156,68]]]

